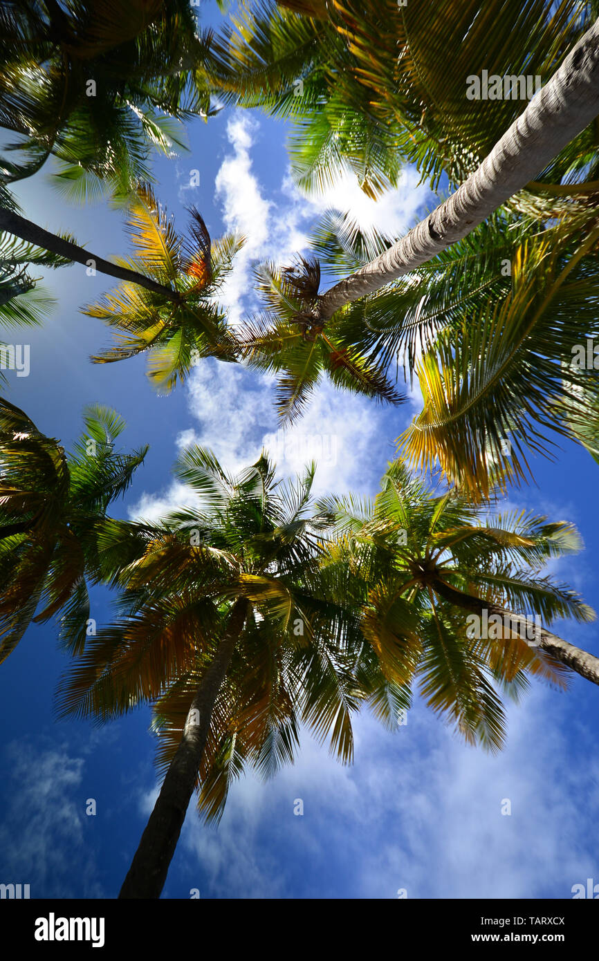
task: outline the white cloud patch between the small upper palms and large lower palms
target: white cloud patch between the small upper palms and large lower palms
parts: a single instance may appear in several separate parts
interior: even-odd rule
[[[262,447],[277,464],[279,476],[302,473],[313,458],[315,496],[349,490],[374,494],[394,456],[393,438],[409,416],[408,406],[378,406],[323,382],[301,421],[284,431],[274,415],[273,379],[213,359],[194,368],[187,403],[197,426],[178,435],[179,449],[210,447],[232,474],[254,463]],[[189,503],[188,489],[174,482],[158,494],[144,493],[129,513],[149,520]]]

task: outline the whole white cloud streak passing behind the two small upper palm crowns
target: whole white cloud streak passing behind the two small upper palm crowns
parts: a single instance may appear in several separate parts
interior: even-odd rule
[[[260,124],[247,112],[236,111],[227,124],[227,136],[232,152],[216,174],[216,196],[226,230],[246,237],[220,297],[234,324],[259,307],[252,291],[253,263],[263,259],[289,262],[294,253],[306,248],[310,229],[324,210],[348,209],[362,226],[376,224],[385,233],[397,235],[410,228],[427,196],[426,188],[417,185],[417,175],[407,169],[400,186],[377,202],[366,197],[356,177],[347,173],[325,193],[310,198],[303,196],[287,175],[281,188],[266,197],[251,157]],[[392,441],[406,426],[413,407],[419,406],[417,385],[413,393],[407,389],[410,406],[398,411],[323,382],[312,395],[302,421],[281,431],[274,412],[273,383],[274,378],[240,365],[202,361],[187,381],[189,409],[199,427],[180,433],[178,448],[191,443],[210,446],[235,473],[256,460],[263,445],[285,475],[296,474],[314,458],[318,463],[316,494],[350,489],[374,492],[387,460],[394,455]],[[173,483],[165,492],[144,494],[130,513],[151,519],[187,496],[181,484]]]

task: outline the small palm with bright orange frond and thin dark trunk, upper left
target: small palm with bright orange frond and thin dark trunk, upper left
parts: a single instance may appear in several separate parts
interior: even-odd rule
[[[177,234],[152,187],[138,185],[127,221],[136,256],[116,263],[41,230],[12,210],[0,210],[0,229],[45,247],[57,259],[76,260],[122,280],[114,293],[84,309],[118,332],[118,345],[93,359],[106,363],[152,352],[149,376],[170,389],[199,357],[235,359],[235,340],[216,295],[243,239],[226,235],[212,243],[200,213],[193,207],[189,213],[187,236]]]

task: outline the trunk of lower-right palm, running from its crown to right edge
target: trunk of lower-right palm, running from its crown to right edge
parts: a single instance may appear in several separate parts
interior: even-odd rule
[[[512,630],[523,640],[535,637],[538,647],[543,651],[551,654],[556,660],[569,667],[570,670],[575,671],[576,674],[580,674],[582,678],[587,678],[593,684],[599,684],[599,657],[595,657],[594,654],[589,654],[573,644],[568,644],[567,641],[562,640],[556,634],[552,634],[547,628],[537,628],[531,621],[527,621],[522,614],[514,614],[513,611],[506,610],[505,607],[488,604],[487,601],[473,597],[471,594],[463,594],[462,591],[446,584],[444,580],[434,579],[431,586],[439,597],[450,604],[455,604],[456,607],[462,607],[462,610],[469,610],[479,616],[483,614],[484,610],[487,610],[489,617],[491,614],[498,614],[502,621],[509,618]]]

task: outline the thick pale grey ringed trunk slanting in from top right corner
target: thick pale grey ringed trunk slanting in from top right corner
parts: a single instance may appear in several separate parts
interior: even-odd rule
[[[599,114],[599,20],[451,197],[389,249],[336,283],[318,301],[328,320],[344,304],[378,290],[462,240],[535,180]]]

